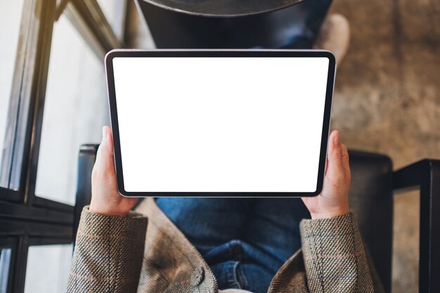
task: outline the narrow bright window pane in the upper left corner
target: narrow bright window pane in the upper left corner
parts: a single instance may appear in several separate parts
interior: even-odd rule
[[[24,0],[0,1],[0,165]],[[3,184],[4,185],[4,184]]]

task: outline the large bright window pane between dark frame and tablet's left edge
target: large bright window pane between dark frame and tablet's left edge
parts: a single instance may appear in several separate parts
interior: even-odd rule
[[[62,15],[54,25],[35,193],[75,203],[79,145],[108,124],[103,60]]]

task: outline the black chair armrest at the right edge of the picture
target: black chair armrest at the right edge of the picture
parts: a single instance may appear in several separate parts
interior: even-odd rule
[[[440,292],[440,160],[423,159],[395,171],[393,188],[420,188],[419,292]]]

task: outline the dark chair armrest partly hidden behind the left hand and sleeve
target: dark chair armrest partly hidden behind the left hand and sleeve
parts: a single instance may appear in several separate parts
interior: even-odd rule
[[[91,200],[91,170],[96,160],[99,145],[81,145],[78,155],[77,194],[73,216],[73,245],[77,237],[79,218],[84,206]]]

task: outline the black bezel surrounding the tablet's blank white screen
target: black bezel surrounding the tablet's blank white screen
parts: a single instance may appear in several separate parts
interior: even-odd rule
[[[115,95],[115,79],[113,74],[113,58],[148,58],[148,57],[306,57],[328,58],[328,78],[325,93],[323,129],[321,135],[321,150],[319,155],[318,179],[314,192],[128,192],[124,189],[124,174],[122,171],[122,156],[119,141],[119,126],[117,118],[117,103]],[[325,164],[328,147],[328,134],[332,112],[332,98],[335,84],[336,60],[330,51],[316,50],[112,50],[105,56],[105,72],[107,75],[108,101],[110,107],[110,123],[113,134],[115,171],[117,188],[126,197],[312,197],[319,195],[323,189]]]

